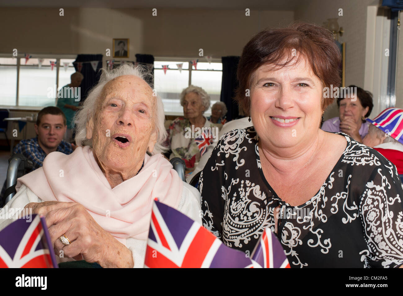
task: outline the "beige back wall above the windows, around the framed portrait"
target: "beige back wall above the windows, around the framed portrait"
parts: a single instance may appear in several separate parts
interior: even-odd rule
[[[285,26],[292,11],[66,8],[2,8],[0,53],[104,54],[112,51],[112,38],[129,38],[129,60],[135,54],[214,58],[240,55],[243,46],[260,29]]]

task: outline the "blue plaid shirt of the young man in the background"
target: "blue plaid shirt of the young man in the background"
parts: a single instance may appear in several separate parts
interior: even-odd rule
[[[56,151],[69,155],[73,153],[73,148],[71,147],[70,143],[67,143],[66,141],[62,140],[59,146],[57,147]],[[37,168],[40,168],[43,165],[46,157],[45,151],[41,148],[41,146],[39,146],[38,138],[32,138],[20,141],[12,151],[12,154],[17,153],[21,153],[22,155],[27,157],[27,159],[30,160],[33,164],[32,169],[29,172],[27,172],[27,174],[36,170]],[[0,204],[2,204],[4,201],[5,191],[6,191],[6,181],[4,181],[4,185],[0,193]]]

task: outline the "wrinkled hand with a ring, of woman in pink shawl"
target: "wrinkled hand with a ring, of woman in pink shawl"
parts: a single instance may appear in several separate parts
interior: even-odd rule
[[[82,258],[102,267],[133,267],[131,251],[103,230],[83,205],[53,201],[28,205],[35,209],[33,213],[45,216],[56,255],[62,250],[64,257]],[[63,234],[69,245],[60,241]]]

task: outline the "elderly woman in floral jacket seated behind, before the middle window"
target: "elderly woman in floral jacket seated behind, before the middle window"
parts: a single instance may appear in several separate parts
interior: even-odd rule
[[[193,168],[195,162],[199,162],[201,154],[206,151],[206,146],[212,143],[212,139],[199,141],[204,139],[204,135],[197,135],[197,133],[192,135],[188,131],[203,127],[207,128],[205,130],[215,128],[214,124],[203,116],[210,107],[210,96],[201,87],[190,85],[181,93],[181,106],[183,106],[185,118],[176,118],[170,124],[167,130],[167,144],[172,151],[170,159],[180,157],[185,160],[187,168]]]

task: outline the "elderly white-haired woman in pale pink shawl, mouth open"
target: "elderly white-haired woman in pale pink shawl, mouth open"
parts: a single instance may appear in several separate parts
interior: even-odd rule
[[[201,222],[197,190],[160,153],[164,108],[139,68],[103,70],[76,123],[80,147],[50,153],[43,168],[18,179],[8,203],[44,215],[56,257],[143,267],[157,198]]]

